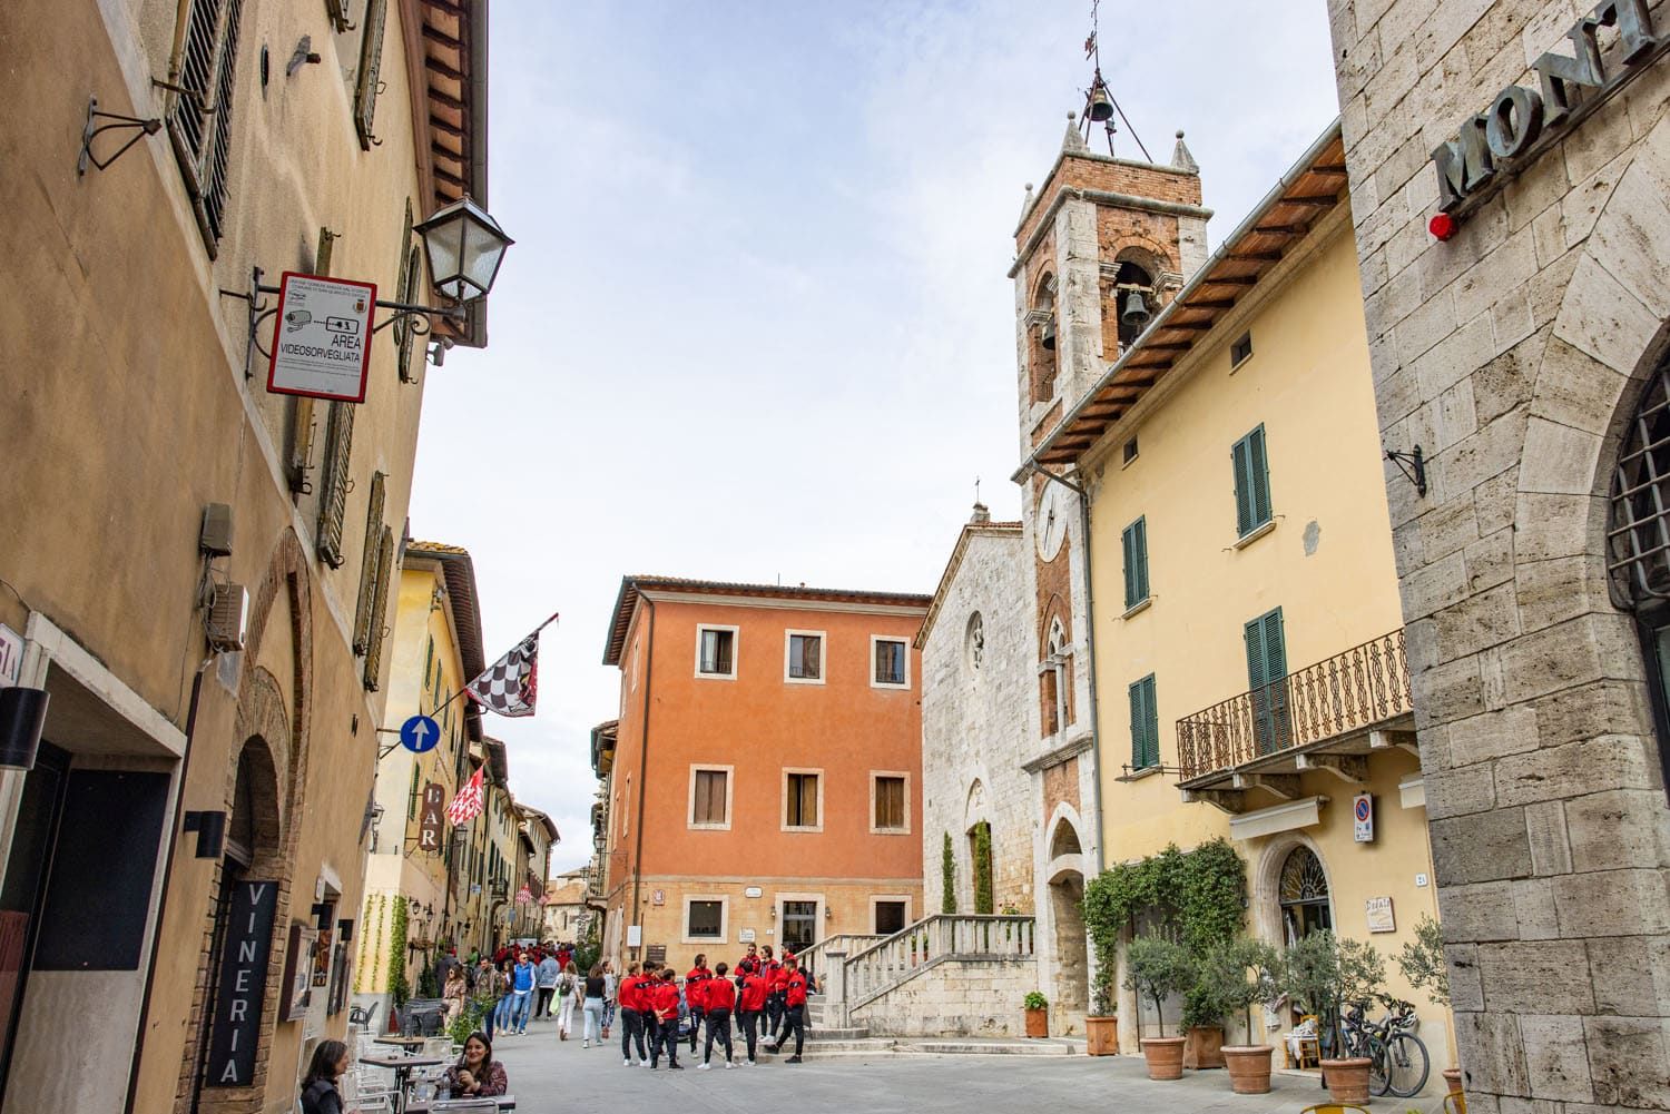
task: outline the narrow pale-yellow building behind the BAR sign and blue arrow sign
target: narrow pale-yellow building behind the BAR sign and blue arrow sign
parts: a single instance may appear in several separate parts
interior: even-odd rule
[[[382,1017],[391,1007],[394,950],[406,960],[411,992],[436,944],[451,940],[468,899],[454,868],[463,842],[446,820],[446,805],[474,772],[471,743],[481,742],[481,713],[458,695],[483,668],[476,575],[466,549],[431,541],[406,546],[391,640],[386,730],[424,715],[439,735],[423,753],[389,733],[379,747],[354,999],[364,1007],[382,1002]],[[396,900],[406,902],[399,940]]]

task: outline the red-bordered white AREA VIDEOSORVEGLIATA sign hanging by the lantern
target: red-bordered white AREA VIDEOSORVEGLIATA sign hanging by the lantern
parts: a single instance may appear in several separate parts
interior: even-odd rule
[[[364,403],[371,369],[372,282],[286,271],[267,391],[336,403]]]

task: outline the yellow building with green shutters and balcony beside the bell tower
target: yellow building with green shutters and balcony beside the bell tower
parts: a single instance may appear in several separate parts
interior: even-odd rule
[[[1087,493],[1106,860],[1227,837],[1249,934],[1389,959],[1436,890],[1341,164],[1334,127],[1030,466]],[[1420,1007],[1436,1081],[1448,1010],[1393,962],[1386,992]],[[1136,1051],[1152,1005],[1121,994]]]

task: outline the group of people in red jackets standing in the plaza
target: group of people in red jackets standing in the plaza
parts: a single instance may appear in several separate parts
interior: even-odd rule
[[[713,1044],[725,1052],[725,1067],[736,1067],[731,1049],[731,1020],[746,1044],[743,1067],[757,1064],[757,1049],[775,1051],[795,1037],[795,1054],[785,1064],[798,1064],[807,1039],[807,990],[810,977],[800,970],[793,954],[777,962],[772,945],[748,945],[736,967],[718,964],[708,970],[706,955],[696,955],[683,987],[671,967],[638,964],[626,967],[618,1002],[621,1012],[621,1064],[626,1067],[660,1067],[666,1054],[670,1071],[683,1071],[678,1062],[680,1022],[688,1025],[690,1054],[696,1052],[700,1032],[706,1032],[698,1071],[713,1067]],[[646,1047],[648,1046],[648,1047]],[[636,1052],[636,1057],[633,1057]]]

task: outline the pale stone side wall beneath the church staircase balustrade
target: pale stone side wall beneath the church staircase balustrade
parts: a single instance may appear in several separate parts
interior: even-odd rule
[[[1037,989],[1034,960],[954,959],[853,1009],[850,1017],[878,1037],[1022,1037],[1022,1000]]]

